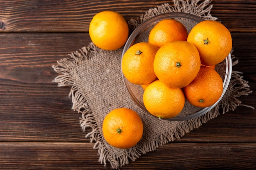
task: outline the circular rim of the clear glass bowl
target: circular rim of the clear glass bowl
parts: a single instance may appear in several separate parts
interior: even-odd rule
[[[185,16],[185,19],[193,20],[195,22],[204,21],[204,19],[202,19],[201,17],[198,17],[196,15],[192,15],[192,14],[189,14],[189,13],[183,13],[183,12],[162,13],[162,14],[150,17],[147,20],[145,20],[144,22],[142,22],[141,24],[139,24],[139,26],[137,26],[137,28],[135,28],[135,30],[131,33],[130,37],[128,38],[128,40],[126,41],[126,44],[124,46],[124,49],[123,49],[123,52],[122,52],[121,61],[123,59],[124,53],[132,45],[133,40],[145,28],[145,26],[150,24],[150,21],[155,20],[156,18],[157,18],[157,20],[160,21],[160,20],[166,19],[166,17],[169,17],[169,18],[183,17],[184,18],[184,16]],[[220,96],[220,98],[218,99],[217,102],[215,102],[213,105],[211,105],[209,107],[202,108],[200,111],[197,111],[197,112],[195,112],[195,113],[193,113],[191,115],[182,116],[182,117],[176,116],[176,117],[168,118],[168,119],[164,119],[163,118],[163,120],[169,120],[169,121],[190,120],[190,119],[198,118],[198,117],[206,114],[207,112],[209,112],[211,109],[213,109],[220,102],[220,100],[223,98],[223,96],[225,95],[225,92],[227,91],[227,88],[229,86],[229,82],[230,82],[231,74],[232,74],[232,58],[231,58],[231,54],[229,53],[228,56],[225,58],[225,61],[222,61],[222,62],[226,63],[226,72],[225,72],[225,78],[224,78],[224,81],[223,81],[223,92],[222,92],[222,95]],[[139,106],[142,110],[144,110],[146,113],[149,113],[147,111],[147,109],[145,108],[145,106],[141,105],[141,102],[135,97],[135,95],[133,93],[131,93],[130,87],[128,87],[126,85],[128,83],[128,80],[124,76],[122,70],[121,70],[121,74],[122,74],[123,83],[125,85],[126,91],[128,92],[130,98],[132,98],[132,100],[135,102],[135,104],[137,106]],[[153,116],[151,113],[149,113],[149,114],[151,116]]]

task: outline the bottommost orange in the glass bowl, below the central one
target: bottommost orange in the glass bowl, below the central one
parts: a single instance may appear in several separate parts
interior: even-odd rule
[[[167,87],[156,80],[145,89],[143,102],[152,115],[158,118],[173,118],[184,108],[185,97],[182,89]]]

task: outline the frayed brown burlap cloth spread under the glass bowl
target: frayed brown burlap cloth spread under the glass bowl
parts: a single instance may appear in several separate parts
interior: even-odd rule
[[[128,24],[131,30],[141,22],[166,12],[186,12],[198,15],[205,20],[216,20],[210,14],[211,0],[173,0],[174,5],[162,4],[154,9],[149,9],[140,18],[130,20]],[[57,61],[53,65],[54,70],[60,75],[54,82],[58,86],[71,86],[74,111],[81,113],[80,124],[85,131],[90,128],[91,142],[95,142],[94,148],[98,149],[99,161],[106,165],[109,162],[112,168],[119,168],[134,161],[141,154],[155,150],[157,147],[182,137],[189,131],[198,128],[208,120],[216,118],[220,114],[236,109],[241,105],[238,97],[248,95],[248,82],[243,80],[242,73],[233,71],[229,88],[221,102],[204,116],[187,121],[171,122],[159,120],[142,111],[130,98],[124,87],[121,76],[121,54],[123,48],[115,51],[101,50],[90,44],[79,51],[69,54],[68,58]],[[234,56],[233,56],[234,58]],[[235,60],[235,59],[234,59]],[[233,61],[233,65],[238,61]],[[130,149],[118,149],[110,146],[104,139],[101,126],[104,117],[112,109],[127,107],[136,111],[144,124],[144,134],[140,142]],[[221,109],[220,109],[221,108]]]

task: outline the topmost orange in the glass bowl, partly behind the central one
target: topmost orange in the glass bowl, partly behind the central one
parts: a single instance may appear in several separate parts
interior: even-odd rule
[[[150,31],[148,42],[159,48],[171,41],[186,41],[188,32],[186,27],[173,19],[166,19],[158,22]]]

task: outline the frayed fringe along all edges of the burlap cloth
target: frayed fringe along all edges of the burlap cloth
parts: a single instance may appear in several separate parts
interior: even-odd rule
[[[192,0],[190,2],[185,0],[173,0],[173,2],[174,7],[172,7],[170,4],[162,4],[154,9],[148,10],[145,15],[141,15],[141,17],[137,18],[137,20],[130,20],[128,22],[130,28],[135,29],[139,24],[141,24],[141,22],[144,22],[148,18],[166,12],[186,12],[200,16],[205,20],[217,20],[216,17],[212,17],[210,14],[212,5],[209,5],[209,3],[211,0],[205,0],[200,4],[198,4],[199,0]],[[160,134],[159,138],[155,139],[155,142],[152,144],[144,145],[143,148],[137,147],[130,149],[126,155],[121,155],[120,157],[109,158],[108,152],[110,152],[110,150],[104,150],[104,144],[101,142],[102,136],[99,134],[100,127],[96,124],[93,113],[87,104],[86,98],[84,98],[84,96],[79,92],[79,89],[77,89],[72,76],[70,75],[72,68],[79,65],[79,63],[81,63],[83,60],[89,59],[88,56],[94,56],[94,54],[97,54],[100,51],[103,52],[103,50],[97,48],[91,43],[89,46],[83,47],[79,51],[69,54],[70,58],[57,61],[58,65],[53,65],[52,67],[54,68],[55,72],[61,74],[54,79],[54,82],[58,83],[59,87],[71,86],[69,96],[72,98],[72,109],[78,113],[81,113],[82,117],[80,119],[80,124],[83,131],[85,132],[85,129],[87,128],[92,129],[92,131],[87,133],[85,137],[90,137],[91,142],[96,142],[94,144],[94,149],[98,149],[100,155],[99,161],[104,163],[104,165],[109,162],[112,168],[124,166],[125,164],[129,163],[129,159],[134,161],[141,154],[146,154],[147,152],[155,150],[157,147],[162,146],[163,144],[182,137],[186,133],[189,133],[189,131],[198,128],[203,123],[216,118],[220,114],[220,108],[223,109],[222,113],[230,110],[233,111],[237,106],[242,105],[241,101],[238,100],[238,97],[241,95],[248,95],[252,92],[249,88],[248,82],[243,80],[242,73],[233,71],[229,85],[229,90],[231,93],[225,95],[227,96],[226,99],[228,100],[222,99],[215,108],[199,118],[180,122],[180,126],[173,131]],[[235,65],[238,63],[238,61],[234,61],[233,63]],[[253,107],[251,108],[254,109]]]

